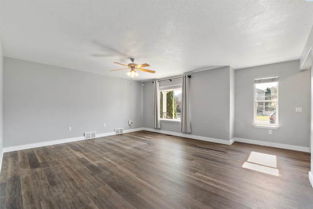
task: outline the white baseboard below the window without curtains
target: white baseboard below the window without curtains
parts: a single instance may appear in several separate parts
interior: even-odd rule
[[[272,143],[268,141],[258,141],[258,140],[251,140],[251,139],[242,139],[242,138],[234,138],[235,141],[244,142],[249,144],[258,144],[262,146],[270,146],[282,149],[290,149],[295,151],[302,151],[302,152],[311,152],[310,147],[303,147],[303,146],[295,146],[289,144],[280,144],[280,143]]]

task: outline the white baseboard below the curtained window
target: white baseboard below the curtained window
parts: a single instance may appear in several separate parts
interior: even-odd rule
[[[209,138],[209,137],[201,137],[201,136],[195,136],[195,135],[190,135],[190,134],[183,134],[183,133],[177,133],[177,132],[171,132],[171,131],[163,131],[159,129],[152,129],[152,128],[143,128],[142,130],[144,131],[151,131],[151,132],[156,132],[160,134],[168,134],[168,135],[173,135],[177,137],[184,137],[184,138],[189,138],[189,139],[198,139],[202,141],[209,141],[209,142],[214,142],[214,143],[220,143],[220,144],[227,144],[230,145],[234,142],[234,139],[231,139],[230,141],[223,140],[223,139],[214,139],[214,138]]]

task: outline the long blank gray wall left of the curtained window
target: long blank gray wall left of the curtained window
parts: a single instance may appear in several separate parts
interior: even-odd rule
[[[143,126],[141,82],[7,57],[3,76],[4,147]]]

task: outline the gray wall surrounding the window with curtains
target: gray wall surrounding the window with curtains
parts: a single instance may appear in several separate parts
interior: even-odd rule
[[[230,113],[230,100],[233,99],[230,87],[234,85],[233,69],[228,66],[190,74],[191,135],[230,140],[234,118],[231,116],[233,113]],[[151,81],[144,83],[143,98],[143,124],[145,128],[153,128]],[[161,130],[180,133],[180,124],[161,121]]]

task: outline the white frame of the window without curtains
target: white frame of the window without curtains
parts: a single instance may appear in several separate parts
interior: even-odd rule
[[[277,82],[277,98],[276,99],[271,99],[271,100],[256,100],[257,92],[256,92],[256,80],[264,80],[263,82],[260,83],[272,83],[272,82]],[[273,76],[266,76],[266,77],[257,77],[253,79],[253,126],[256,128],[267,128],[267,129],[278,129],[279,128],[279,76],[278,75],[273,75]],[[257,104],[259,102],[275,102],[276,107],[275,107],[275,124],[262,124],[262,123],[257,123]]]

